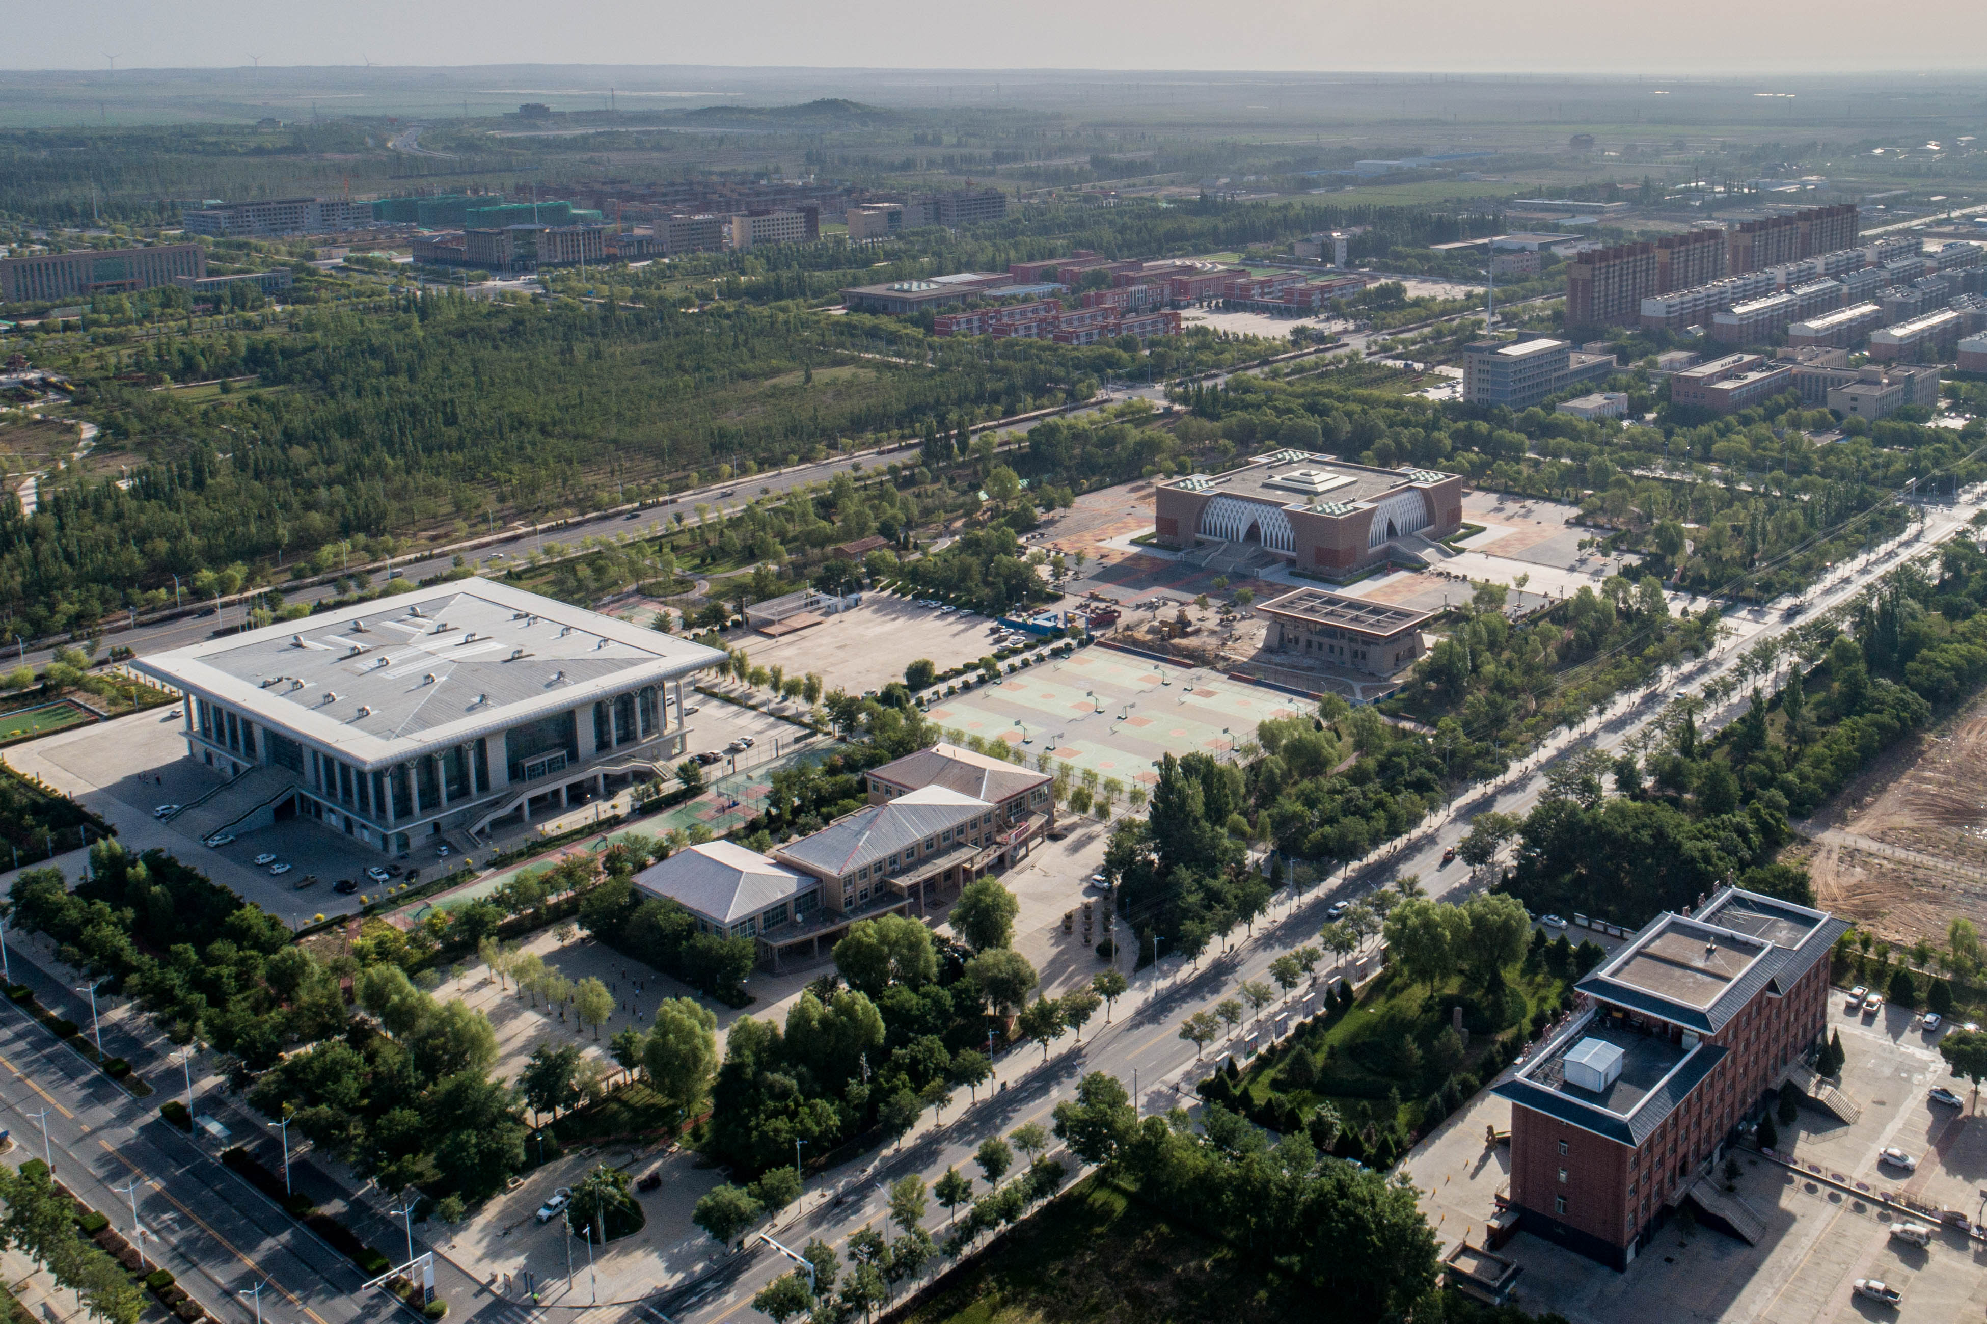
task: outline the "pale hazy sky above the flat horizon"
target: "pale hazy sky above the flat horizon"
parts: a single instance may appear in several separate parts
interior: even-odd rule
[[[66,0],[16,70],[715,64],[1089,70],[1967,70],[1987,2],[1917,0]]]

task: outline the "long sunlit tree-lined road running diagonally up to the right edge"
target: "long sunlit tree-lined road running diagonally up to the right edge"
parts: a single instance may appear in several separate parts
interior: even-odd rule
[[[1268,966],[1276,956],[1315,942],[1331,903],[1363,897],[1405,875],[1419,875],[1427,893],[1437,899],[1468,891],[1472,887],[1468,869],[1460,863],[1445,867],[1443,853],[1462,841],[1476,813],[1486,809],[1526,813],[1544,795],[1546,771],[1554,759],[1588,747],[1619,749],[1637,730],[1665,714],[1671,696],[1701,696],[1705,686],[1733,672],[1739,656],[1755,640],[1782,634],[1812,614],[1850,600],[1874,579],[1896,569],[1906,555],[1925,551],[1945,533],[1961,527],[1971,513],[1971,501],[1963,507],[1933,507],[1927,511],[1921,539],[1911,541],[1908,535],[1880,545],[1872,549],[1870,557],[1844,567],[1830,580],[1830,586],[1810,594],[1810,608],[1798,618],[1786,618],[1780,610],[1782,604],[1729,616],[1735,632],[1713,658],[1685,666],[1667,682],[1659,678],[1645,690],[1619,698],[1582,728],[1548,740],[1538,753],[1512,767],[1498,781],[1476,787],[1397,849],[1355,861],[1347,871],[1349,877],[1335,887],[1317,889],[1301,899],[1284,893],[1272,907],[1272,914],[1258,920],[1254,934],[1240,940],[1234,950],[1204,956],[1198,968],[1186,968],[1186,962],[1166,958],[1158,962],[1156,970],[1139,974],[1113,1024],[1089,1036],[1081,1046],[1065,1036],[1059,1042],[1061,1050],[1053,1052],[1045,1066],[1033,1068],[1029,1064],[1039,1064],[1039,1050],[1021,1048],[1007,1054],[999,1070],[999,1079],[1007,1081],[1005,1089],[995,1087],[995,1093],[980,1103],[954,1111],[944,1125],[926,1123],[906,1139],[900,1153],[880,1155],[870,1167],[842,1177],[841,1189],[850,1195],[841,1207],[825,1201],[811,1205],[805,1215],[779,1229],[775,1237],[789,1246],[799,1246],[811,1237],[841,1244],[864,1223],[882,1227],[884,1195],[880,1183],[894,1181],[904,1173],[920,1173],[930,1185],[948,1165],[972,1173],[972,1151],[982,1139],[1005,1135],[1025,1121],[1047,1125],[1055,1103],[1071,1097],[1077,1081],[1089,1072],[1109,1072],[1127,1085],[1137,1081],[1137,1101],[1146,1113],[1164,1111],[1174,1103],[1194,1103],[1196,1054],[1190,1044],[1178,1038],[1180,1020],[1232,994],[1244,980],[1268,978]],[[1699,730],[1709,736],[1737,718],[1745,704],[1745,698],[1735,698],[1715,712],[1703,712]],[[1321,970],[1319,978],[1333,976],[1329,970]],[[1298,990],[1290,1000],[1303,1000],[1307,992]],[[1276,1008],[1264,1012],[1272,1018],[1276,1014]],[[1218,1062],[1222,1054],[1238,1050],[1236,1040],[1248,1036],[1250,1022],[1244,1022],[1234,1040],[1224,1040],[1208,1050],[1206,1062]],[[1075,1165],[1069,1155],[1061,1157]],[[934,1235],[942,1235],[942,1213],[934,1215],[928,1225]],[[749,1304],[753,1292],[787,1268],[787,1262],[765,1250],[741,1254],[709,1282],[682,1288],[664,1298],[662,1310],[672,1320],[693,1320],[695,1324],[757,1318]]]

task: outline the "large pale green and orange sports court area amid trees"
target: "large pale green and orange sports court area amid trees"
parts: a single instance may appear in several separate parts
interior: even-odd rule
[[[946,730],[1019,745],[1029,763],[1047,753],[1150,785],[1166,753],[1222,753],[1254,740],[1266,718],[1305,712],[1315,712],[1313,700],[1093,646],[948,698],[928,716]]]

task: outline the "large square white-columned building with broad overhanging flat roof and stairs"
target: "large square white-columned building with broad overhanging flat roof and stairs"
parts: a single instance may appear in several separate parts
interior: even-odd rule
[[[684,678],[723,660],[471,579],[133,666],[185,690],[187,755],[230,777],[189,805],[201,835],[308,815],[403,853],[656,775],[684,751]]]

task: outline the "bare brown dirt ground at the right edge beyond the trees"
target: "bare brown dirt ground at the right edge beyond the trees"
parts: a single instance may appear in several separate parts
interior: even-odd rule
[[[1852,781],[1788,851],[1822,909],[1888,940],[1941,942],[1953,916],[1987,926],[1987,696]]]

